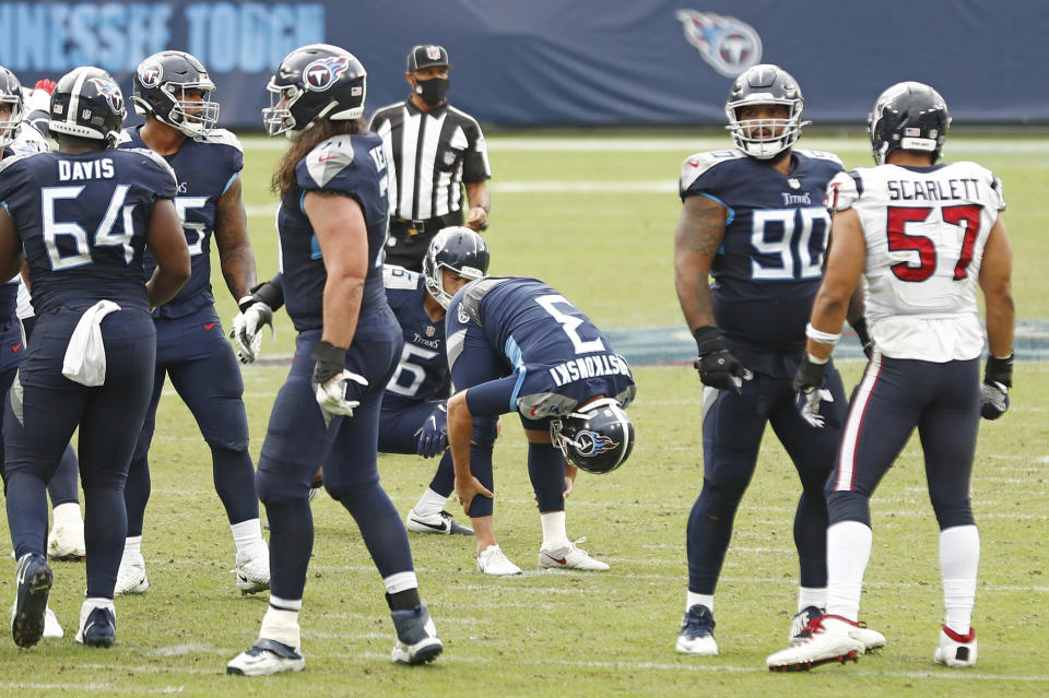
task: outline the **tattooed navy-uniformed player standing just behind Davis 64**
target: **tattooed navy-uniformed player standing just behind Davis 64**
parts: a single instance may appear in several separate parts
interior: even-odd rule
[[[193,276],[173,300],[154,311],[155,380],[125,487],[128,540],[117,593],[143,593],[149,588],[142,529],[150,498],[149,450],[165,377],[193,413],[211,449],[215,492],[236,547],[237,589],[256,593],[269,589],[269,551],[248,454],[244,381],[211,291],[212,235],[233,297],[249,298],[255,285],[255,257],[240,198],[244,153],[233,133],[215,128],[219,104],[211,99],[215,85],[193,56],[182,51],[150,56],[134,71],[132,85],[134,109],[145,123],[125,131],[118,145],[148,147],[175,169],[179,187],[175,206],[184,220]],[[149,256],[145,268],[152,270]]]

